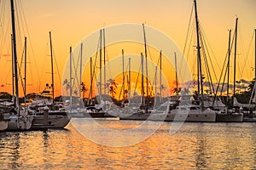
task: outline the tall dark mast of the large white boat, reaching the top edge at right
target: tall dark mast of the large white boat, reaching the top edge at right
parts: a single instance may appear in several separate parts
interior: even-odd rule
[[[197,16],[197,8],[196,8],[196,0],[194,1],[195,3],[195,26],[196,26],[196,41],[197,41],[197,59],[198,59],[198,66],[199,66],[199,73],[200,73],[200,83],[201,83],[201,108],[204,108],[204,90],[203,90],[203,82],[202,82],[202,72],[201,72],[201,52],[200,52],[200,39],[199,39],[199,22],[198,22],[198,16]],[[198,84],[199,85],[199,84]]]

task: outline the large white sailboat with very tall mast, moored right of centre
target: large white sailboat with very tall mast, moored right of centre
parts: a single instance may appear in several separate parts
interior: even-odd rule
[[[198,59],[198,92],[201,89],[201,96],[199,97],[200,105],[191,105],[182,99],[176,109],[172,109],[170,101],[160,105],[158,109],[148,118],[151,121],[177,121],[177,122],[215,122],[216,112],[204,106],[204,94],[202,84],[202,69],[201,69],[201,44],[199,22],[197,16],[196,0],[195,3],[195,26],[196,26],[196,39],[197,39],[197,59]],[[185,97],[185,96],[183,96]]]

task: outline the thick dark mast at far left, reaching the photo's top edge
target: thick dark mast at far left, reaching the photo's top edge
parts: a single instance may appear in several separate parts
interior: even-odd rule
[[[16,108],[20,114],[20,99],[19,99],[19,79],[18,79],[18,59],[16,49],[16,33],[15,33],[15,4],[14,0],[10,0],[11,17],[12,17],[12,34],[13,34],[13,50],[14,50],[14,67],[15,67],[15,95],[16,95]]]

